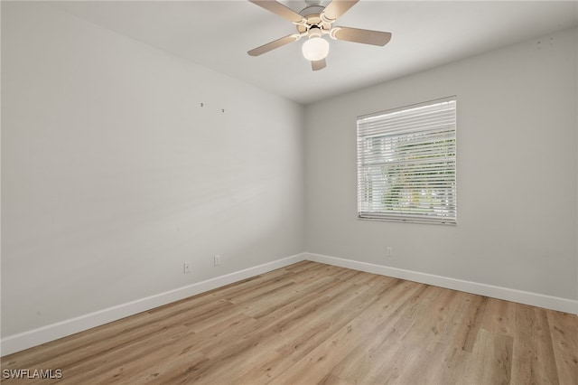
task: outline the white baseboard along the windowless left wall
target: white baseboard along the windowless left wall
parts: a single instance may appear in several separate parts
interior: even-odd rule
[[[24,349],[31,348],[41,343],[47,343],[57,340],[67,335],[79,333],[102,324],[117,321],[129,315],[154,309],[161,305],[170,304],[189,296],[212,290],[214,288],[225,286],[246,279],[255,277],[259,274],[284,268],[296,262],[304,260],[304,254],[296,254],[291,257],[278,259],[253,268],[246,268],[224,276],[214,277],[206,281],[198,282],[188,286],[182,286],[154,296],[137,299],[126,304],[109,307],[99,310],[98,312],[88,315],[80,315],[70,320],[61,321],[56,324],[49,324],[38,329],[7,336],[1,340],[2,356],[13,352],[20,352]]]

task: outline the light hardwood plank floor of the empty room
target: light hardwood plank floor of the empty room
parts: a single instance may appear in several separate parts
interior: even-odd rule
[[[578,317],[300,262],[17,352],[3,383],[578,384]],[[4,377],[4,376],[3,376]]]

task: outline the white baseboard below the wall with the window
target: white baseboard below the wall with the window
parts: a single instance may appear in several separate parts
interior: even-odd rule
[[[401,278],[427,285],[451,288],[453,290],[459,290],[480,296],[505,299],[507,301],[544,307],[546,309],[557,310],[573,315],[578,314],[578,301],[573,299],[560,298],[557,296],[545,296],[508,287],[491,286],[461,279],[434,276],[433,274],[425,274],[417,271],[405,270],[403,268],[390,268],[387,266],[359,262],[351,259],[330,257],[321,254],[304,253],[304,258],[314,262],[339,266],[340,268],[352,268],[354,270],[365,271],[381,276]]]

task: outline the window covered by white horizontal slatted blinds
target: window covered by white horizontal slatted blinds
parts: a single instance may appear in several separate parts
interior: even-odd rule
[[[358,216],[456,223],[456,99],[358,117]]]

